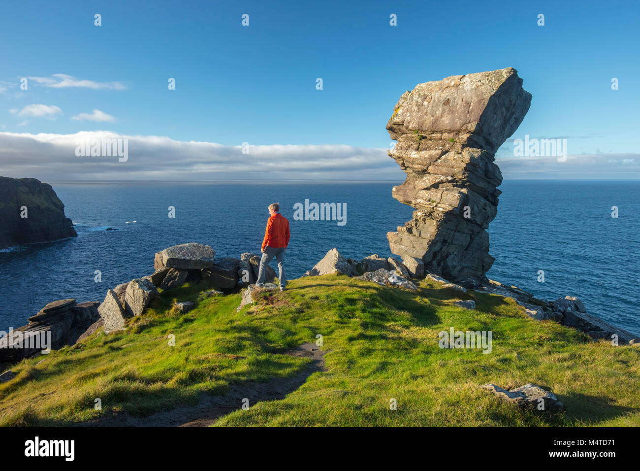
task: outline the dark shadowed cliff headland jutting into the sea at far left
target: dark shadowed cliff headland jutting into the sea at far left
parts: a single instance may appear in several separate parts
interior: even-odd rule
[[[26,216],[21,209],[26,206]],[[77,236],[51,185],[35,178],[0,177],[0,249]]]

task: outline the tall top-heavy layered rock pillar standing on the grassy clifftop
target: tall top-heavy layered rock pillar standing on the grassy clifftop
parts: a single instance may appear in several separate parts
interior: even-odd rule
[[[406,173],[392,195],[413,206],[413,219],[387,233],[391,251],[417,259],[450,281],[486,283],[486,229],[497,213],[495,152],[520,126],[531,94],[508,69],[420,83],[394,106],[388,152]]]

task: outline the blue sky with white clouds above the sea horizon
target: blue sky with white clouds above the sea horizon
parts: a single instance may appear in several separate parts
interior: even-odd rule
[[[0,175],[398,181],[405,90],[514,67],[533,98],[505,179],[640,179],[638,24],[637,1],[7,3]],[[126,138],[127,160],[77,156],[92,136]],[[516,156],[525,136],[568,158]]]

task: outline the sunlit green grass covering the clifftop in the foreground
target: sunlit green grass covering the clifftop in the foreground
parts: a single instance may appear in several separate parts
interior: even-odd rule
[[[205,287],[184,285],[163,293],[123,333],[99,333],[13,367],[17,377],[0,384],[0,425],[147,415],[196,404],[202,392],[224,394],[229,384],[291,377],[309,360],[285,351],[317,334],[325,372],[282,401],[258,402],[215,425],[640,425],[640,349],[531,320],[497,295],[472,293],[477,310],[463,310],[451,305],[460,293],[439,286],[422,282],[412,293],[344,276],[305,277],[236,313],[239,294],[202,299]],[[196,309],[175,313],[173,299],[196,301]],[[492,331],[492,353],[440,349],[438,333],[450,327]],[[565,411],[518,411],[479,390],[485,383],[540,384]],[[102,411],[93,408],[96,398]]]

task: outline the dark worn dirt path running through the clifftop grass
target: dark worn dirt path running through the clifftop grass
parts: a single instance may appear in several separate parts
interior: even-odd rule
[[[300,347],[286,352],[291,356],[311,358],[313,361],[305,370],[289,378],[275,378],[268,383],[244,383],[230,386],[224,396],[202,394],[196,406],[183,406],[161,411],[147,417],[133,417],[128,413],[113,417],[97,418],[76,424],[76,427],[207,427],[223,415],[242,407],[244,398],[249,406],[260,401],[273,401],[300,388],[307,377],[317,371],[324,371],[324,351],[315,343],[303,343]]]

